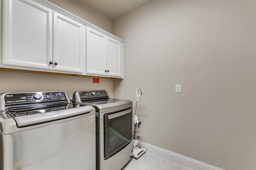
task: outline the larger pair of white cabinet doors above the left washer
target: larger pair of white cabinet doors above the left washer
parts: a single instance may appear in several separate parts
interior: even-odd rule
[[[31,0],[4,2],[3,64],[83,73],[83,24]]]

